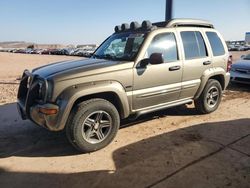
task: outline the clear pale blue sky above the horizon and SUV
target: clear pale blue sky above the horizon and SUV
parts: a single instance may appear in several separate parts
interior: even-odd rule
[[[173,0],[174,18],[211,21],[225,40],[250,32],[250,0]],[[164,21],[165,0],[0,0],[0,41],[101,43],[115,25]]]

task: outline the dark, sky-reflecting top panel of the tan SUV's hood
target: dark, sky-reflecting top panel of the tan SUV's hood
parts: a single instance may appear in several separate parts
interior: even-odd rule
[[[53,63],[36,68],[32,71],[33,74],[39,75],[43,78],[67,73],[71,71],[90,71],[98,68],[105,68],[119,64],[116,61],[103,60],[103,59],[81,59],[77,61],[63,61]]]

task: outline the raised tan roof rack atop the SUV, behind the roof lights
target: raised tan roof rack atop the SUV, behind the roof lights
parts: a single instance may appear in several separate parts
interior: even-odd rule
[[[157,27],[206,27],[214,28],[213,24],[206,20],[198,19],[171,19],[167,22],[153,23]]]

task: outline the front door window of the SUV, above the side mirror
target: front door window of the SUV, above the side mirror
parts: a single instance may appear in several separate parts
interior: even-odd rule
[[[179,58],[174,33],[155,36],[147,49],[146,58],[149,58],[152,53],[162,53],[165,62],[177,61]]]

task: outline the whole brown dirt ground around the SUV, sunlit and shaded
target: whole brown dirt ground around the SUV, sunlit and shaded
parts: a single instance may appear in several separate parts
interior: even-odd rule
[[[250,187],[249,86],[230,85],[209,115],[188,105],[122,122],[108,147],[80,154],[15,104],[23,69],[71,58],[0,53],[0,187]]]

